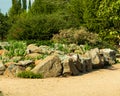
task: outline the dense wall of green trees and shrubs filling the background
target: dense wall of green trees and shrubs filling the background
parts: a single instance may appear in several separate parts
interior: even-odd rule
[[[12,0],[7,19],[9,39],[50,40],[60,30],[83,26],[102,42],[120,41],[120,0]]]

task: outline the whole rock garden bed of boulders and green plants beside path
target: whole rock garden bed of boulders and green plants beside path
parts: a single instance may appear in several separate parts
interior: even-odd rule
[[[87,49],[86,45],[27,45],[23,41],[0,42],[0,75],[23,78],[77,76],[119,61],[110,48]]]

